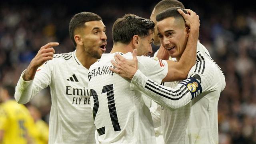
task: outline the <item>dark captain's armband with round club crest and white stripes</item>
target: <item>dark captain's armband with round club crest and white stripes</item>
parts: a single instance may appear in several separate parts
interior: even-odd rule
[[[187,78],[186,80],[183,80],[181,84],[183,84],[188,88],[192,96],[191,100],[202,93],[202,86],[200,82],[196,80],[196,78],[193,78],[193,77]]]

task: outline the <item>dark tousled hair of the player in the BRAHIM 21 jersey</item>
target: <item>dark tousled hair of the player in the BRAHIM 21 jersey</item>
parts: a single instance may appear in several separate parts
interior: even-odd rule
[[[113,42],[129,44],[134,35],[148,36],[149,30],[154,31],[154,22],[134,14],[126,14],[118,18],[112,28]]]

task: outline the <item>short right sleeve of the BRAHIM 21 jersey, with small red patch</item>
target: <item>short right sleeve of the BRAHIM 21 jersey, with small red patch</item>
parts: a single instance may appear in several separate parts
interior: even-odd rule
[[[148,56],[138,57],[138,69],[148,78],[154,80],[158,84],[166,77],[168,72],[168,64],[166,60],[157,60]]]

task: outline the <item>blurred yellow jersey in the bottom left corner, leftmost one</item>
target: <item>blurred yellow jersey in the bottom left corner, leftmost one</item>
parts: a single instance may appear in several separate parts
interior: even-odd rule
[[[31,134],[34,127],[32,116],[23,104],[8,100],[0,106],[0,130],[4,131],[2,144],[34,143]]]

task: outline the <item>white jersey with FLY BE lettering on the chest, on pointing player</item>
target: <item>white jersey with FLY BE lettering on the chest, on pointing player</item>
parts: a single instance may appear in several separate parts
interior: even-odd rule
[[[53,60],[38,68],[34,80],[20,77],[15,99],[22,104],[50,86],[49,144],[95,144],[87,75],[74,51],[54,54]]]

